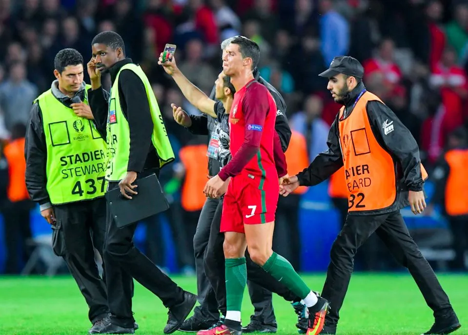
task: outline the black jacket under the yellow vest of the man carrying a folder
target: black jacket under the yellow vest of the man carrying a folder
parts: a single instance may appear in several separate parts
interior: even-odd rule
[[[115,63],[109,68],[112,84],[117,73],[125,64],[132,63],[130,58]],[[141,173],[143,169],[158,169],[159,157],[151,142],[153,120],[143,82],[131,70],[123,70],[119,76],[119,98],[122,113],[130,128],[130,154],[127,171]],[[89,105],[97,126],[106,128],[109,93],[102,86],[88,90]]]

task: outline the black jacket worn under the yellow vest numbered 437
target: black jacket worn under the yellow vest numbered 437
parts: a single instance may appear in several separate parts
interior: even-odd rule
[[[61,93],[54,85],[57,81],[52,83],[52,94],[63,105],[70,107],[73,102],[71,98]],[[84,86],[83,89],[77,92],[77,96],[81,101],[84,101]],[[93,111],[94,112],[94,111]],[[104,135],[105,127],[96,125],[97,130],[101,135]],[[29,121],[26,127],[26,141],[24,146],[24,155],[26,158],[26,187],[29,196],[33,201],[44,205],[50,202],[49,194],[47,193],[47,146],[45,143],[44,126],[42,124],[42,111],[39,103],[36,102],[31,108]]]

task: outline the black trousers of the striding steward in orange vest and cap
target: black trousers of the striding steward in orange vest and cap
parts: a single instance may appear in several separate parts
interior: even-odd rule
[[[409,235],[399,211],[372,216],[348,215],[343,229],[333,242],[322,290],[322,296],[330,302],[330,313],[326,315],[327,326],[335,327],[338,323],[339,312],[353,272],[354,255],[374,231],[398,263],[409,270],[427,305],[434,311],[434,316],[442,315],[447,309],[451,309],[447,294]]]

